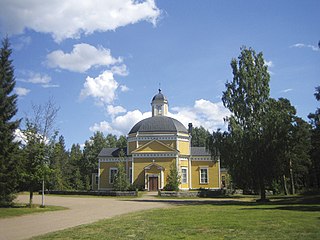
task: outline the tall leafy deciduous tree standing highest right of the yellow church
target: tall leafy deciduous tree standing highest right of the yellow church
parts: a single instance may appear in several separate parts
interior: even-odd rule
[[[226,83],[222,97],[224,106],[232,113],[228,119],[229,131],[237,139],[240,166],[253,177],[264,200],[269,169],[265,168],[260,148],[270,75],[263,54],[256,54],[251,48],[243,47],[238,60],[232,59],[231,67],[233,80]]]

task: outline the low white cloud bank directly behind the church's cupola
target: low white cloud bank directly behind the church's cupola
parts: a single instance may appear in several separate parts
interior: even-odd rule
[[[192,107],[174,107],[168,116],[179,120],[187,128],[188,123],[195,127],[203,126],[209,131],[224,129],[224,118],[230,115],[230,112],[223,107],[221,102],[213,103],[208,100],[196,100]],[[102,121],[95,123],[90,130],[102,131],[116,135],[126,135],[138,121],[151,117],[151,112],[141,112],[139,110],[128,111],[123,115],[112,118],[111,121]]]

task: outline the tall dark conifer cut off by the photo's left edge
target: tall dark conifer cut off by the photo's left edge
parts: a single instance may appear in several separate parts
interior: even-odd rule
[[[0,205],[12,203],[18,186],[18,144],[13,140],[20,121],[11,120],[17,113],[11,53],[9,40],[5,38],[0,49]]]

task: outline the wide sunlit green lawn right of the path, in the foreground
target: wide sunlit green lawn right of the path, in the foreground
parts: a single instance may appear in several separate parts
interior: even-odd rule
[[[174,206],[102,220],[35,239],[320,239],[319,198],[276,199],[264,205],[206,201]]]

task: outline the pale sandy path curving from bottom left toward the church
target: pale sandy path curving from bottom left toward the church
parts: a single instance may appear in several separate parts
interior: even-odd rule
[[[19,217],[0,219],[0,240],[28,239],[33,236],[58,231],[104,218],[151,208],[164,208],[169,204],[150,201],[146,196],[138,201],[117,198],[86,198],[46,196],[46,205],[56,205],[68,210],[35,213]],[[28,202],[27,195],[20,195],[18,202]],[[41,203],[41,196],[34,196],[34,203]]]

